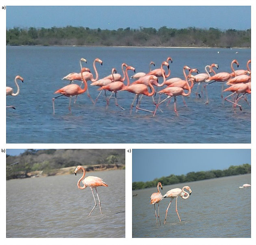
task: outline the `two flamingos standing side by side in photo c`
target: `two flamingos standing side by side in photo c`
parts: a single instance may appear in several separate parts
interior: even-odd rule
[[[165,222],[164,222],[164,224],[166,223],[167,212],[168,212],[168,209],[169,209],[169,207],[170,207],[170,205],[171,205],[171,201],[172,201],[172,199],[174,199],[174,198],[176,199],[176,213],[177,213],[178,218],[179,218],[179,220],[180,220],[180,222],[181,222],[180,215],[179,215],[178,209],[177,209],[177,200],[178,200],[178,197],[181,197],[182,199],[187,199],[187,198],[189,198],[189,196],[190,196],[191,193],[192,193],[190,187],[189,187],[189,186],[184,186],[182,189],[180,189],[180,188],[171,189],[171,190],[167,191],[167,193],[165,193],[165,195],[162,195],[161,192],[160,192],[160,190],[159,190],[159,186],[160,186],[161,189],[163,190],[163,186],[162,186],[161,182],[158,182],[158,183],[157,183],[157,192],[152,193],[152,195],[151,195],[151,197],[150,197],[150,198],[151,198],[150,204],[154,204],[155,216],[156,216],[156,207],[155,207],[155,204],[156,204],[156,203],[158,204],[158,219],[159,219],[160,225],[161,225],[161,221],[160,221],[160,217],[159,217],[159,202],[160,202],[163,198],[166,198],[166,197],[171,198],[171,200],[170,200],[169,205],[168,205],[168,207],[167,207],[167,209],[166,209],[166,211],[165,211]],[[186,191],[184,191],[184,189],[187,189],[187,190],[189,191],[189,193],[186,192]],[[157,225],[157,217],[156,217],[156,225]]]

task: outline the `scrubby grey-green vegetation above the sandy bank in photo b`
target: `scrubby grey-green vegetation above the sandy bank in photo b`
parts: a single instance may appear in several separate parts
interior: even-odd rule
[[[17,163],[14,164],[13,163]],[[52,172],[52,169],[76,165],[107,165],[125,164],[124,150],[31,150],[28,149],[19,156],[6,158],[6,178],[26,177],[31,171]]]

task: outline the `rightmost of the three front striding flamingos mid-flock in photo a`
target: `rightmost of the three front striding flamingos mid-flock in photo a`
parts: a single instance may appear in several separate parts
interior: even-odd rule
[[[158,100],[158,103],[156,104],[156,108],[155,108],[155,111],[153,113],[153,116],[156,115],[156,111],[157,111],[159,105],[162,104],[163,102],[165,102],[165,100],[171,98],[172,96],[174,96],[174,111],[175,111],[176,115],[178,116],[178,112],[177,112],[177,109],[176,109],[176,96],[178,96],[178,95],[189,96],[191,94],[191,88],[189,86],[188,78],[192,78],[191,87],[193,87],[194,76],[189,75],[186,78],[186,82],[187,82],[187,86],[188,86],[188,90],[189,90],[188,93],[185,93],[184,89],[181,88],[181,87],[166,87],[165,89],[162,89],[162,90],[158,91],[158,93],[160,93],[160,94],[165,93],[168,96],[167,96],[167,98],[165,98],[161,102],[160,102],[160,96],[159,96],[159,100]]]

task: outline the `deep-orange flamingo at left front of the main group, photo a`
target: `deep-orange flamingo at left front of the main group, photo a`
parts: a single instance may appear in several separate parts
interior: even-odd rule
[[[81,75],[82,75],[83,72],[85,72],[85,68],[81,69]],[[55,113],[54,100],[56,98],[61,97],[62,95],[65,95],[65,96],[69,97],[68,109],[69,109],[69,111],[71,113],[71,106],[70,106],[70,104],[71,104],[72,96],[84,93],[87,90],[87,82],[86,82],[84,76],[82,76],[82,81],[83,81],[83,83],[85,85],[84,89],[81,89],[81,87],[79,85],[77,85],[77,84],[69,84],[69,85],[67,85],[67,86],[65,86],[65,87],[63,87],[61,89],[58,89],[57,91],[54,92],[54,93],[61,93],[61,95],[56,96],[55,98],[52,98],[53,114]]]

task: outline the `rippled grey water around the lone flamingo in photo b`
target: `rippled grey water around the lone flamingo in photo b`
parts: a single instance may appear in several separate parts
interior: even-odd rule
[[[124,173],[109,170],[86,174],[108,184],[97,188],[102,215],[96,206],[90,216],[93,195],[89,187],[78,189],[79,174],[8,180],[6,236],[125,237]],[[98,203],[96,194],[95,198]]]

